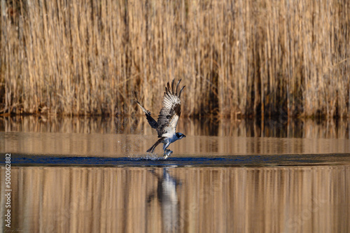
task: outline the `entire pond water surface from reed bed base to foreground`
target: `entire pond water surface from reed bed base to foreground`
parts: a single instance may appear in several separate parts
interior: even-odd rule
[[[0,118],[1,232],[350,232],[349,122]]]

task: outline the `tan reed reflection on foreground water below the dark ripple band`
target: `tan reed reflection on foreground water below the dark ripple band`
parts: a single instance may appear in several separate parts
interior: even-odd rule
[[[3,171],[1,167],[1,183]],[[350,231],[349,165],[153,171],[147,167],[13,167],[11,171],[11,230]],[[1,185],[1,193],[3,189]],[[4,198],[1,195],[1,203]],[[1,205],[0,213],[4,209]],[[1,222],[3,230],[5,222]]]

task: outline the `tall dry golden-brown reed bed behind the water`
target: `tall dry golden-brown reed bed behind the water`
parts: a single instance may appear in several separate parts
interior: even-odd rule
[[[0,2],[2,113],[350,115],[346,0]]]

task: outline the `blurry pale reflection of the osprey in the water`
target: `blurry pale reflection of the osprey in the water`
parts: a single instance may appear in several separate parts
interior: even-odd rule
[[[180,184],[179,180],[169,175],[168,168],[163,168],[163,175],[152,174],[158,179],[157,190],[153,190],[148,195],[147,202],[150,203],[157,197],[162,211],[162,227],[165,232],[174,232],[179,226],[179,199],[176,187]]]

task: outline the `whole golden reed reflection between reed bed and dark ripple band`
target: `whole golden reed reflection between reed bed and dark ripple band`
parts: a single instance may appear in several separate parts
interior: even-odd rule
[[[147,120],[140,119],[0,118],[0,152],[146,157],[157,135]],[[340,120],[262,123],[185,118],[178,128],[187,137],[171,145],[176,157],[350,153],[349,124]]]

